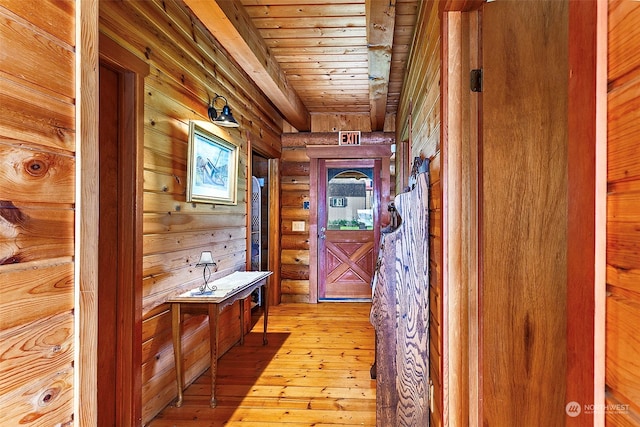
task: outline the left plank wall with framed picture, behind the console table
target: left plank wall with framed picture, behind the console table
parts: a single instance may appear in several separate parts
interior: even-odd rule
[[[195,267],[212,250],[218,272],[246,266],[246,214],[252,148],[278,157],[282,119],[226,52],[173,0],[100,2],[100,30],[150,64],[145,80],[143,224],[143,423],[176,395],[168,297],[198,286]],[[205,120],[214,94],[225,96],[238,129],[211,126],[240,147],[238,204],[185,202],[187,133],[190,119]],[[238,304],[221,315],[223,353],[239,338]],[[246,321],[246,317],[245,317]],[[208,320],[186,316],[183,354],[189,383],[208,367]]]

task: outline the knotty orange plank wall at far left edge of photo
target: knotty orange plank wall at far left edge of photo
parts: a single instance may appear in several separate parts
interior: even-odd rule
[[[0,19],[0,425],[66,426],[74,395],[75,7],[2,2]]]

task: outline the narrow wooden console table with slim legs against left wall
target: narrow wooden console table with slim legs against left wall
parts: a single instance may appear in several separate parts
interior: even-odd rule
[[[244,344],[244,300],[259,288],[263,292],[264,305],[264,332],[263,344],[267,344],[267,319],[269,317],[268,283],[267,277],[271,271],[236,271],[228,276],[214,280],[212,285],[217,289],[208,294],[199,294],[198,289],[185,292],[167,300],[171,304],[171,331],[173,335],[173,354],[176,365],[176,382],[178,385],[178,398],[176,406],[182,406],[182,391],[184,387],[184,372],[182,366],[182,333],[181,333],[181,306],[188,304],[189,308],[202,308],[209,314],[209,341],[211,346],[211,407],[215,408],[216,398],[216,373],[218,367],[218,314],[225,307],[236,301],[240,302],[240,344]]]

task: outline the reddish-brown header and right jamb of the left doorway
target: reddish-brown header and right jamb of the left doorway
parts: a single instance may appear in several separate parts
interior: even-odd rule
[[[118,248],[118,389],[116,401],[119,425],[137,426],[142,422],[142,209],[144,152],[144,78],[149,65],[100,33],[100,61],[118,67],[124,82],[123,129],[119,172],[123,187],[122,212],[132,216],[119,218],[122,227]],[[133,111],[127,110],[133,106]],[[126,120],[125,118],[133,118]],[[133,143],[129,143],[133,142]],[[98,305],[99,305],[98,301]]]

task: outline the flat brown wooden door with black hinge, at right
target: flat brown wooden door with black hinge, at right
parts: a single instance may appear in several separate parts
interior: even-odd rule
[[[568,2],[483,7],[483,425],[565,423],[568,45]]]

